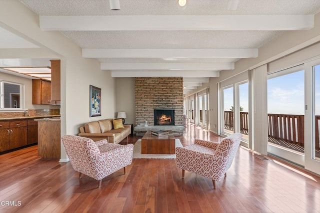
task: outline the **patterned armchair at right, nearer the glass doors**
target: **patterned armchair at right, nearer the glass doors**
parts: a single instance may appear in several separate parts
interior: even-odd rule
[[[176,147],[176,165],[184,170],[201,175],[212,180],[213,189],[215,181],[226,176],[236,151],[240,145],[242,135],[235,133],[224,138],[220,143],[195,140],[194,144],[186,147]]]

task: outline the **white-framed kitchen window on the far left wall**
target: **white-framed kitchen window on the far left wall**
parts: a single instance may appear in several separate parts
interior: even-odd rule
[[[0,109],[22,109],[22,84],[0,81]]]

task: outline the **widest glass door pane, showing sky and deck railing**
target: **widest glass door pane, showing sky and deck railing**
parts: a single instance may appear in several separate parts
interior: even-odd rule
[[[303,165],[303,66],[268,75],[267,95],[268,152]]]

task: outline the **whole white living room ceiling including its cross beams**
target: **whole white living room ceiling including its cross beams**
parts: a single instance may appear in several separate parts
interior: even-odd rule
[[[108,0],[20,1],[42,30],[61,31],[113,77],[182,76],[190,89],[284,31],[312,28],[320,10],[320,0],[188,0],[183,9],[177,0],[120,0],[120,10]]]

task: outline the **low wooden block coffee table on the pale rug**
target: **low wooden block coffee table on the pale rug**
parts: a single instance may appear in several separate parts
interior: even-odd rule
[[[147,131],[141,139],[141,154],[175,154],[174,136],[155,136]]]

